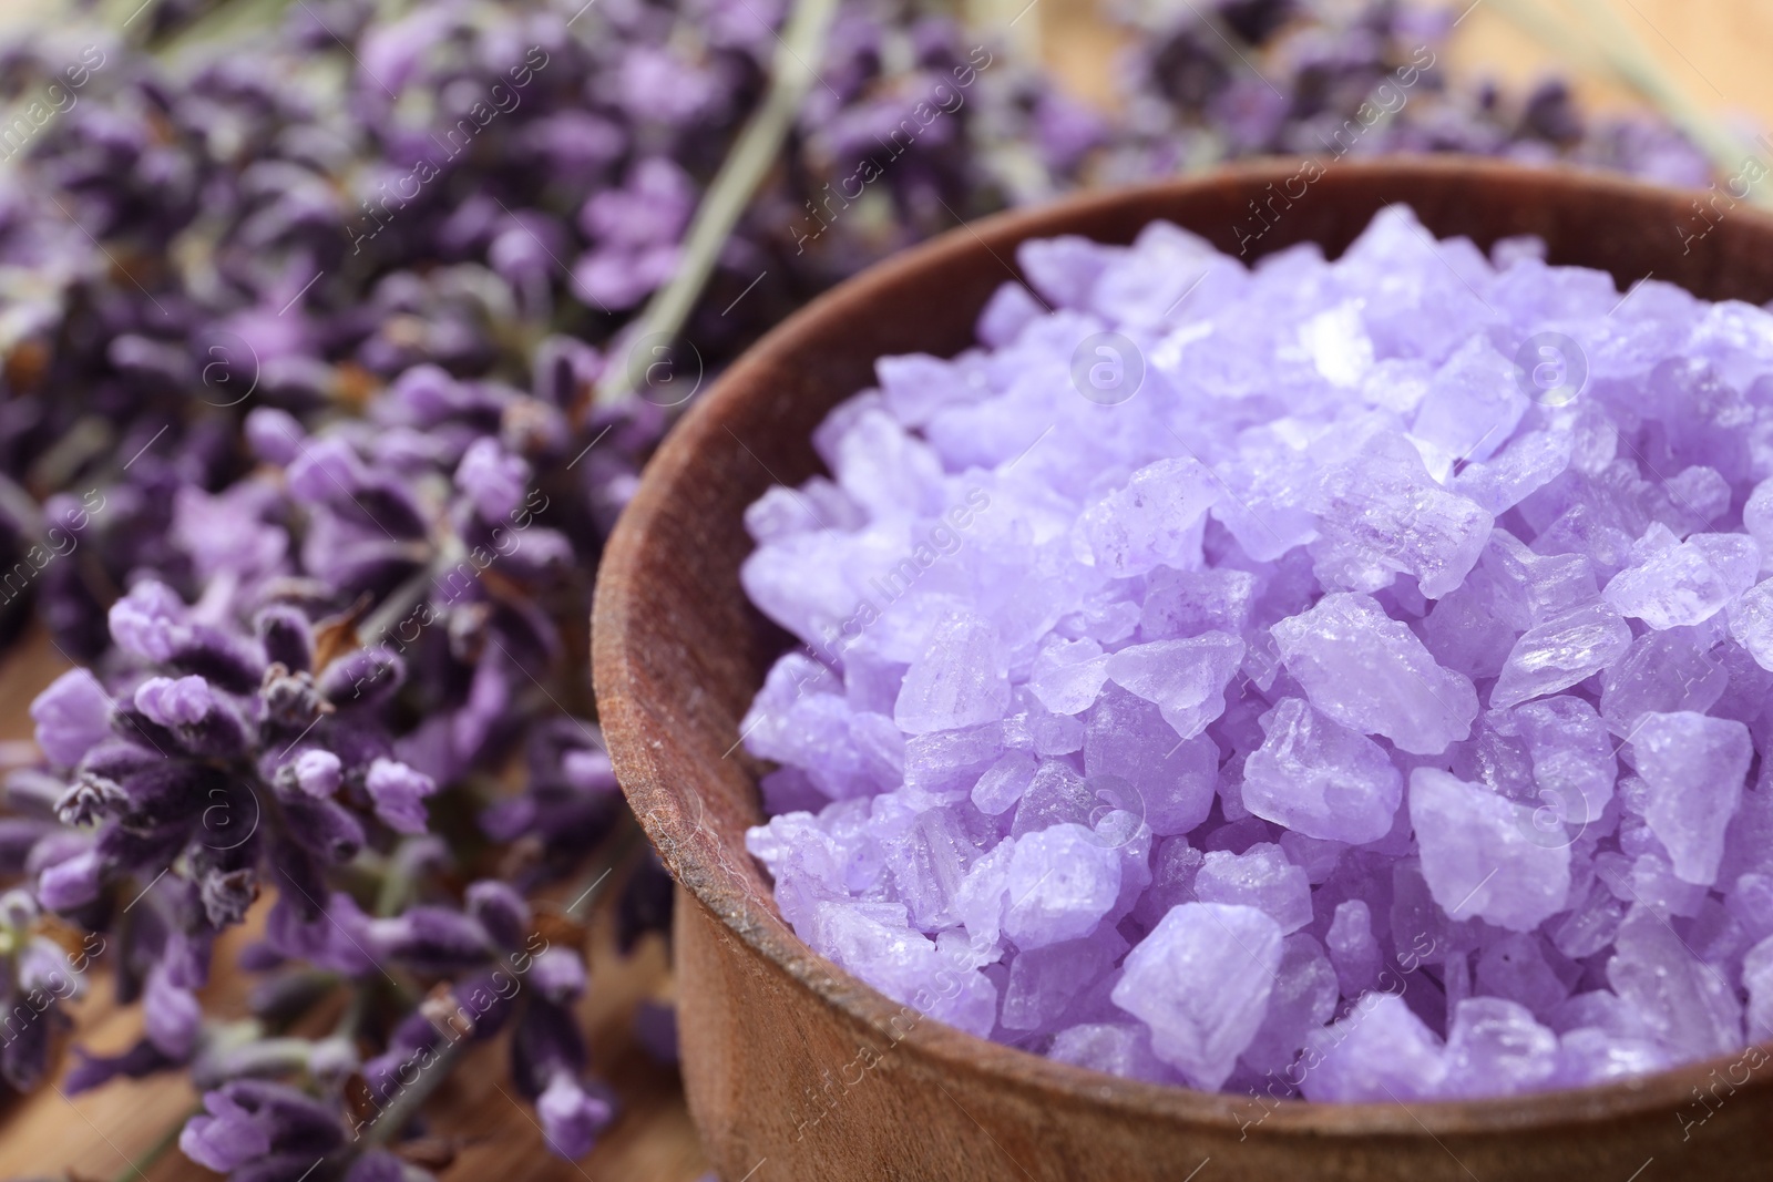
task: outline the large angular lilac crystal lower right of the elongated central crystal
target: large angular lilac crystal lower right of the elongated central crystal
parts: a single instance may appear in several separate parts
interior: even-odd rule
[[[1532,808],[1418,767],[1410,774],[1410,826],[1422,877],[1449,916],[1525,932],[1564,909],[1569,845],[1548,842]]]

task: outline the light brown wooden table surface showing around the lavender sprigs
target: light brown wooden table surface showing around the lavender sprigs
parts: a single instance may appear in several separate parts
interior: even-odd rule
[[[1183,0],[1175,0],[1181,4]],[[1459,0],[1461,5],[1464,0]],[[1583,0],[1527,0],[1553,12],[1580,12]],[[1700,106],[1748,113],[1773,128],[1773,0],[1596,0],[1631,28]],[[1037,0],[1039,21],[1019,30],[1023,44],[1039,51],[1080,97],[1112,103],[1112,60],[1121,37],[1097,18],[1096,0]],[[59,0],[0,0],[0,30],[41,21]],[[1023,0],[991,0],[991,12],[1016,16]],[[979,9],[972,9],[979,11]],[[1000,18],[1007,19],[1007,18]],[[1562,55],[1523,35],[1489,0],[1477,0],[1461,21],[1452,64],[1457,71],[1507,82],[1530,82],[1544,73],[1573,73]],[[1633,99],[1599,78],[1578,78],[1590,103],[1624,106]],[[41,638],[27,640],[0,661],[0,751],[30,739],[25,707],[64,663]],[[598,1148],[580,1163],[546,1152],[527,1106],[504,1086],[502,1046],[480,1047],[459,1067],[433,1102],[433,1127],[457,1147],[445,1182],[691,1182],[706,1171],[695,1129],[683,1106],[677,1076],[638,1046],[629,1017],[644,999],[668,996],[665,945],[645,941],[622,960],[612,948],[608,923],[594,923],[594,966],[585,1001],[596,1069],[621,1100],[622,1115]],[[206,1007],[220,1014],[245,1012],[245,984],[222,966],[229,943],[216,955],[216,982]],[[99,987],[78,1007],[80,1040],[98,1051],[115,1051],[140,1037],[140,1012],[119,1008]],[[147,1163],[149,1150],[177,1129],[195,1095],[176,1077],[122,1081],[82,1097],[44,1088],[0,1108],[0,1178],[60,1177],[71,1182],[138,1178],[174,1182],[211,1178],[179,1152]],[[729,1182],[739,1182],[732,1178]],[[750,1182],[778,1182],[764,1168]],[[840,1182],[840,1180],[833,1180]]]

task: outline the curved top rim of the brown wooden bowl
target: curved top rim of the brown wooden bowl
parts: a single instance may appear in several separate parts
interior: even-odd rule
[[[1300,163],[1294,158],[1261,158],[1223,165],[1202,174],[1172,177],[1136,186],[1090,190],[1057,202],[1027,209],[1012,209],[957,225],[926,243],[897,252],[869,266],[784,319],[750,349],[746,349],[690,408],[684,418],[665,438],[640,486],[622,512],[605,548],[598,572],[596,604],[592,613],[592,665],[599,719],[605,730],[610,758],[642,828],[660,851],[672,877],[725,934],[739,939],[757,957],[777,971],[791,976],[814,999],[830,1007],[858,1031],[886,1037],[894,1051],[908,1058],[926,1060],[931,1069],[989,1079],[1041,1102],[1062,1100],[1103,1109],[1115,1118],[1142,1118],[1181,1122],[1222,1134],[1239,1134],[1261,1125],[1262,1136],[1466,1136],[1495,1132],[1555,1131],[1638,1116],[1679,1118],[1679,1109],[1697,1106],[1700,1090],[1729,1076],[1750,1056],[1761,1063],[1773,1058],[1773,1038],[1745,1044],[1727,1054],[1681,1063],[1660,1072],[1548,1092],[1482,1099],[1436,1099],[1399,1102],[1319,1102],[1301,1099],[1257,1099],[1250,1093],[1197,1092],[1183,1085],[1161,1085],[1142,1079],[1110,1076],[1071,1063],[1060,1063],[1019,1047],[993,1042],[947,1026],[940,1021],[913,1021],[906,1033],[892,1026],[904,1015],[904,1007],[867,985],[832,960],[814,952],[782,920],[773,895],[762,891],[762,914],[754,909],[754,898],[732,875],[745,870],[715,868],[711,861],[725,861],[727,852],[718,835],[707,828],[700,792],[695,792],[697,815],[688,817],[681,805],[681,790],[661,774],[651,750],[652,732],[660,718],[635,693],[637,652],[629,649],[628,618],[640,610],[645,592],[637,578],[642,555],[654,544],[652,525],[661,516],[672,489],[693,478],[697,455],[723,431],[722,415],[746,399],[759,395],[757,377],[791,360],[798,349],[819,338],[832,321],[842,321],[853,310],[867,307],[879,289],[890,289],[904,276],[972,253],[984,246],[1005,266],[1005,278],[1018,271],[1005,261],[1005,248],[1027,237],[1060,232],[1064,225],[1087,222],[1122,202],[1163,198],[1177,193],[1202,191],[1227,179],[1241,183],[1282,183],[1294,175]],[[1388,156],[1371,161],[1337,161],[1326,168],[1317,186],[1339,186],[1360,179],[1385,179],[1408,184],[1411,179],[1468,181],[1473,186],[1514,188],[1535,191],[1562,190],[1567,197],[1583,191],[1590,197],[1636,198],[1658,197],[1670,207],[1690,202],[1699,190],[1681,190],[1647,184],[1612,174],[1553,165],[1523,167],[1477,156]],[[1773,214],[1748,207],[1730,211],[1732,218],[1759,220],[1773,237]],[[755,610],[755,608],[754,608]],[[768,875],[745,856],[748,870],[768,888]],[[1746,1083],[1736,1092],[1773,1092],[1773,1072],[1750,1067]],[[1732,1092],[1734,1095],[1734,1092]],[[1706,1109],[1711,1111],[1711,1109]],[[1248,1120],[1248,1116],[1255,1116]]]

